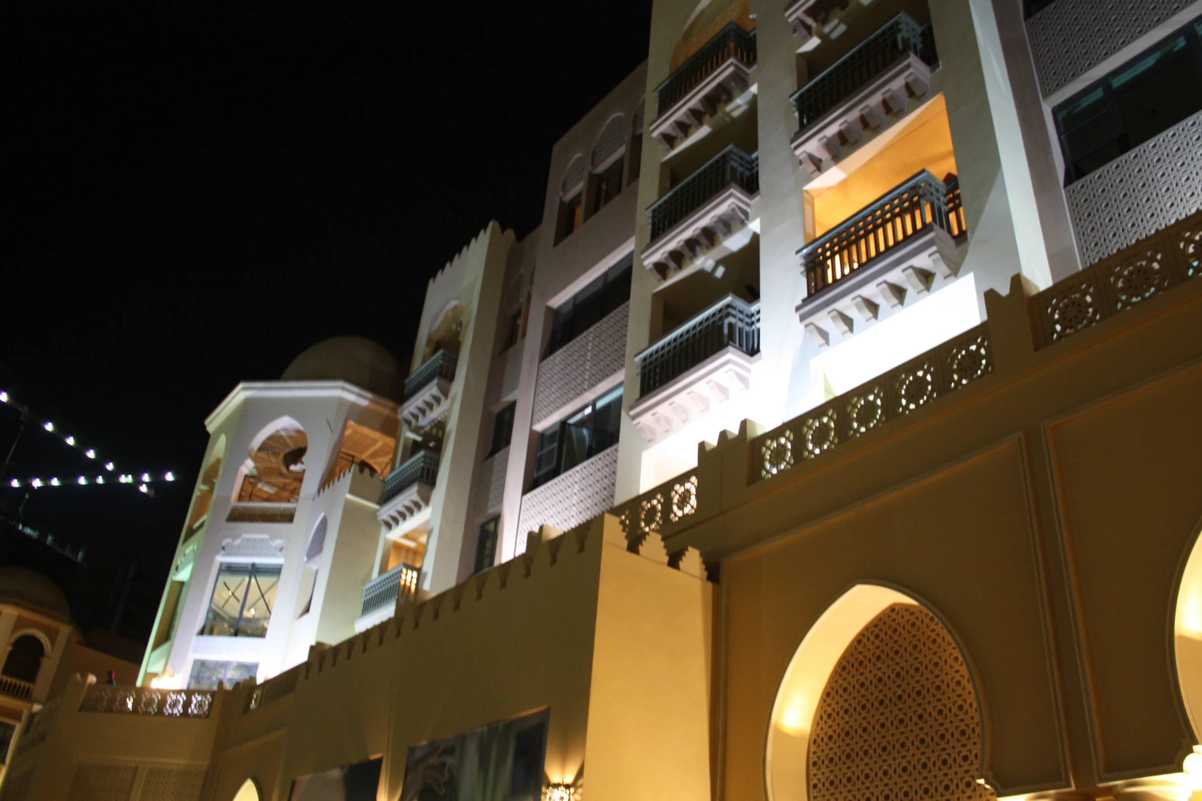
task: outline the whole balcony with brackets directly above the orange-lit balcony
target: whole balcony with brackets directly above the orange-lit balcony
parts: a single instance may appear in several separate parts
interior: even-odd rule
[[[793,153],[814,177],[905,116],[930,94],[938,64],[930,24],[900,13],[792,96]]]

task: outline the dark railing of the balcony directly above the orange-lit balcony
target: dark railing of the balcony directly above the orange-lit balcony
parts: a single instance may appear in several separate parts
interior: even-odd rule
[[[911,53],[932,66],[939,60],[930,23],[920,25],[903,12],[797,90],[791,100],[801,130]]]

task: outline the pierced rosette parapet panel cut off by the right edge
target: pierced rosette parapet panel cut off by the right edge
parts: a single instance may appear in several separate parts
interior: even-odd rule
[[[1030,299],[1047,347],[1197,277],[1202,213],[1053,283]]]

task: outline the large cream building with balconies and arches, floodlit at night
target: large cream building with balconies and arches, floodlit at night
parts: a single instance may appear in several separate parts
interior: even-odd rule
[[[656,0],[407,377],[210,417],[139,687],[0,799],[1197,799],[1200,35]]]

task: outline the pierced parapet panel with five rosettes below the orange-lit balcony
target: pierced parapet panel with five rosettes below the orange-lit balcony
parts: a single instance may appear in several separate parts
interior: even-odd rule
[[[787,471],[798,453],[801,460],[820,456],[990,372],[989,328],[982,323],[754,440],[752,480]]]

